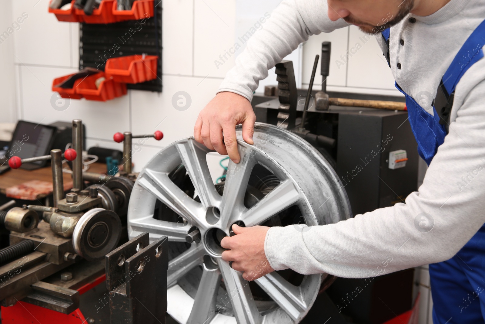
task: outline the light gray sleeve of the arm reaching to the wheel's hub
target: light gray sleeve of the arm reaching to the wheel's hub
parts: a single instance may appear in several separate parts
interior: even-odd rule
[[[458,85],[456,120],[419,191],[405,204],[336,224],[271,228],[265,240],[271,267],[362,278],[454,256],[485,222],[483,68],[485,61],[476,63]]]

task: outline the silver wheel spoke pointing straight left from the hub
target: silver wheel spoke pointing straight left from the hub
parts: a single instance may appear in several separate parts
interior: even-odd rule
[[[150,233],[150,239],[158,239],[166,235],[169,241],[185,242],[185,237],[191,227],[192,225],[189,222],[159,221],[151,215],[146,218],[132,220],[130,222],[130,235],[135,236],[133,231],[139,233],[148,232]]]

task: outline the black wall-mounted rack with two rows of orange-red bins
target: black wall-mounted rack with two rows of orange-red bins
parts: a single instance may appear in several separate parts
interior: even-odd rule
[[[162,5],[159,0],[135,0],[131,10],[117,10],[116,0],[102,0],[90,16],[74,7],[50,9],[59,21],[80,22],[80,70],[99,73],[81,78],[72,88],[52,81],[52,91],[62,98],[107,101],[123,96],[127,89],[162,92]],[[142,54],[143,53],[143,54]],[[96,81],[104,77],[103,81]]]

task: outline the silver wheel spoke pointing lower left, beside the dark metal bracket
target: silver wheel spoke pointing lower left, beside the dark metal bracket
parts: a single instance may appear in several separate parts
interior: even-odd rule
[[[175,285],[178,279],[202,264],[204,251],[202,244],[192,244],[187,251],[170,260],[167,270],[167,288]]]

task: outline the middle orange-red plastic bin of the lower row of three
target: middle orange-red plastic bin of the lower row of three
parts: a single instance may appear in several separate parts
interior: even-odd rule
[[[99,88],[97,88],[95,82],[100,77],[105,77],[106,80],[102,81]],[[115,82],[113,78],[106,76],[104,72],[77,80],[74,88],[77,94],[80,94],[87,100],[96,101],[111,100],[126,95],[127,93],[126,84]]]

